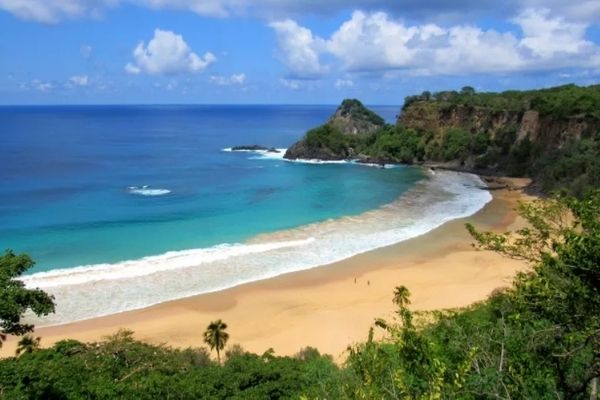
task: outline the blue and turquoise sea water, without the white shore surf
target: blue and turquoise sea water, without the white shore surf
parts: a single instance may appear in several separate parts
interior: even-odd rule
[[[287,147],[333,110],[0,108],[0,244],[29,253],[33,272],[131,260],[358,214],[422,178],[411,168],[317,167],[221,151]],[[143,185],[170,192],[127,189]]]

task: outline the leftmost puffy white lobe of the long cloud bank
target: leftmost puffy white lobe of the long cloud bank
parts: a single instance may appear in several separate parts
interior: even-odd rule
[[[275,30],[281,51],[281,60],[294,78],[314,78],[323,75],[327,68],[319,61],[324,46],[322,39],[291,19],[269,24]]]

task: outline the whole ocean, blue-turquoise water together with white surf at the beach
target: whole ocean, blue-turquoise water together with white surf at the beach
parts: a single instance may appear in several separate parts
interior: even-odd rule
[[[0,107],[0,246],[52,325],[314,268],[490,199],[469,174],[283,160],[335,106]],[[388,122],[397,106],[371,107]],[[259,144],[279,153],[232,152]]]

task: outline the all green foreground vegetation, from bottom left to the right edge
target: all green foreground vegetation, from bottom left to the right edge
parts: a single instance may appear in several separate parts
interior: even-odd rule
[[[99,343],[28,345],[0,361],[6,399],[596,399],[600,379],[600,191],[521,204],[514,233],[467,229],[482,250],[526,260],[512,286],[459,310],[409,309],[399,286],[392,321],[378,319],[342,368],[307,348],[295,357],[225,361],[121,331]],[[215,323],[223,331],[222,322]],[[374,340],[374,329],[386,336]]]

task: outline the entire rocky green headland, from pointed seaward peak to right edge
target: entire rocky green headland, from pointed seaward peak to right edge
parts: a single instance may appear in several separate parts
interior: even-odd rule
[[[345,100],[288,159],[358,159],[531,176],[543,191],[600,187],[600,85],[533,91],[424,92],[396,125]]]

